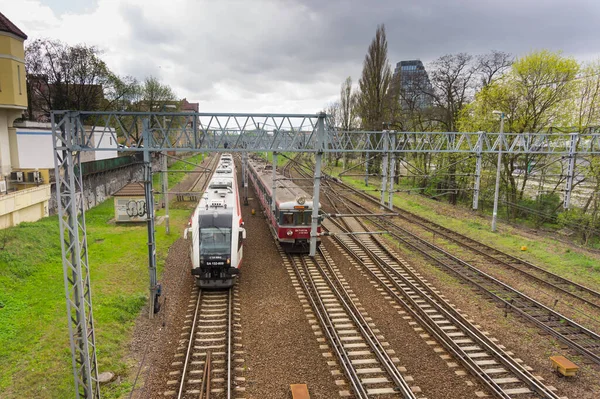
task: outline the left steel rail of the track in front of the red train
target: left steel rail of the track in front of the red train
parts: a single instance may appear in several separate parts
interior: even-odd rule
[[[332,344],[332,348],[335,351],[335,353],[338,357],[338,360],[340,361],[340,366],[342,367],[344,373],[346,374],[346,377],[348,377],[350,384],[352,385],[352,387],[354,389],[355,395],[358,398],[368,399],[367,390],[362,385],[362,382],[360,381],[360,377],[358,376],[356,369],[354,368],[354,366],[352,366],[352,361],[350,360],[350,357],[349,357],[346,349],[344,349],[342,340],[341,340],[340,336],[338,335],[337,331],[335,330],[334,323],[331,320],[331,317],[329,316],[329,314],[327,313],[327,309],[325,308],[323,299],[319,295],[317,286],[316,286],[312,276],[310,275],[310,271],[308,270],[308,267],[302,260],[302,257],[300,255],[289,255],[289,254],[285,255],[281,248],[279,248],[279,251],[280,251],[282,257],[287,256],[287,259],[289,259],[290,264],[292,265],[292,268],[294,269],[294,272],[296,273],[296,276],[298,276],[298,280],[299,280],[300,284],[302,284],[302,288],[304,289],[304,292],[306,293],[306,296],[312,305],[315,316],[319,319],[319,323],[321,324],[323,331],[327,335],[329,342]],[[298,258],[298,261],[296,260],[296,258]],[[305,278],[302,276],[302,274],[300,272],[300,268],[297,265],[297,262],[299,262],[302,265],[302,267],[304,269],[304,274],[306,276],[306,280],[308,280],[308,284],[307,284]],[[309,286],[309,284],[310,284],[310,286]],[[316,297],[316,300],[315,300],[315,297]]]

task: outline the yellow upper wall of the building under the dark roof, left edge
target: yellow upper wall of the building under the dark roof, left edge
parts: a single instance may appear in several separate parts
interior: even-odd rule
[[[0,107],[27,108],[23,40],[0,32]]]

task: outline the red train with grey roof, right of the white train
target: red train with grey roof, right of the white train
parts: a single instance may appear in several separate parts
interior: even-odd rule
[[[292,180],[276,172],[275,211],[271,209],[273,169],[264,160],[248,160],[248,175],[267,215],[269,226],[281,247],[290,253],[308,253],[313,211],[312,197]],[[317,233],[321,232],[320,225]],[[317,245],[320,238],[317,237]]]

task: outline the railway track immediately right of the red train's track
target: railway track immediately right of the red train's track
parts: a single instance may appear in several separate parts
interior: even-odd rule
[[[408,264],[354,218],[327,220],[338,249],[359,264],[430,336],[499,398],[559,397],[424,283]],[[339,234],[344,233],[344,234]]]

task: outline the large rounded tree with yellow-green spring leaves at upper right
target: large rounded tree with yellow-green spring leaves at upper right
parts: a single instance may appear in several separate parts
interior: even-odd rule
[[[498,120],[492,115],[493,110],[506,114],[506,132],[537,133],[553,125],[568,125],[573,115],[578,71],[578,63],[560,53],[543,50],[521,57],[510,71],[477,94],[462,113],[459,125],[465,131],[494,131]],[[510,145],[511,136],[506,138]],[[505,154],[502,184],[507,203],[516,205],[523,199],[527,181],[536,168],[545,168],[539,155]],[[555,190],[558,187],[557,184]]]

